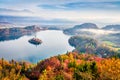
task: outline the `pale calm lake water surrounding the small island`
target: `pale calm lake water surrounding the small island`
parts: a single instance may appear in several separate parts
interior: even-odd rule
[[[28,42],[34,35],[0,42],[0,58],[17,61],[27,60],[37,63],[39,60],[58,54],[65,54],[67,51],[74,49],[68,43],[70,36],[63,34],[62,31],[40,31],[36,33],[36,36],[43,42],[37,46]]]

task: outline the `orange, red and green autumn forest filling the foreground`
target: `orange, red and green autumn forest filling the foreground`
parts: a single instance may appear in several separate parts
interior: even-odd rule
[[[67,52],[37,64],[0,60],[0,80],[118,80],[120,59]]]

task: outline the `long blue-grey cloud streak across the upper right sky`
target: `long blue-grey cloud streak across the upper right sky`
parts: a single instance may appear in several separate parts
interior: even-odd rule
[[[45,4],[38,5],[43,9],[58,9],[58,10],[81,10],[81,9],[118,9],[120,1],[117,2],[73,2],[64,4]]]

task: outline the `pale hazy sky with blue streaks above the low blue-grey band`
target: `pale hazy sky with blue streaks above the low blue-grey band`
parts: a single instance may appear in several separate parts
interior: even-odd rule
[[[119,24],[120,0],[0,0],[0,15]]]

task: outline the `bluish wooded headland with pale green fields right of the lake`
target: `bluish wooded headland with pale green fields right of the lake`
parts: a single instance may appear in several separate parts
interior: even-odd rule
[[[120,48],[109,41],[99,41],[85,36],[72,36],[69,39],[69,44],[75,47],[74,51],[96,54],[103,58],[108,58],[114,55],[120,57]]]

